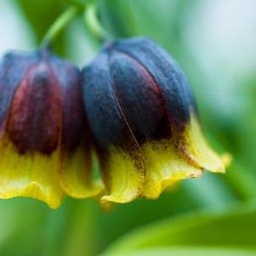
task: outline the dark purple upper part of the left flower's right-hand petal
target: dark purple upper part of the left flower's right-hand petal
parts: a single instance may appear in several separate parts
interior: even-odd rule
[[[73,152],[84,143],[89,147],[88,124],[82,102],[82,77],[79,69],[70,62],[51,58],[54,73],[61,84],[62,136],[61,148]]]

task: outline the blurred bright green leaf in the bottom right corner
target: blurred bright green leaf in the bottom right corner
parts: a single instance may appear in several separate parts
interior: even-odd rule
[[[131,232],[106,255],[172,246],[237,247],[253,249],[256,253],[255,230],[256,205],[241,205],[222,213],[180,215]]]

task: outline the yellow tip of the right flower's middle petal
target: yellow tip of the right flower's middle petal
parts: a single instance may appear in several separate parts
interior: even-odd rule
[[[185,161],[171,139],[151,141],[142,145],[146,159],[145,186],[141,196],[156,199],[167,187],[181,179],[200,177],[202,170]]]

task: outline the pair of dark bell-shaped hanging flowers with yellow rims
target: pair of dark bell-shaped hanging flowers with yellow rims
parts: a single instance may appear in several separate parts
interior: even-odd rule
[[[0,198],[28,196],[51,208],[65,195],[155,199],[203,170],[225,173],[226,163],[202,135],[184,72],[145,37],[105,40],[82,71],[45,46],[5,54],[0,154]]]

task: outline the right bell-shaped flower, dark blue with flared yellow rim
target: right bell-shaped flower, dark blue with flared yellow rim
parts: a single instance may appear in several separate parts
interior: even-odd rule
[[[82,77],[106,187],[103,202],[157,198],[205,169],[225,173],[225,157],[202,135],[184,72],[151,39],[106,43]]]

